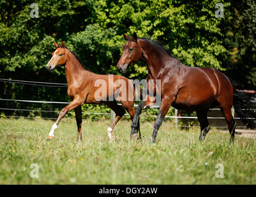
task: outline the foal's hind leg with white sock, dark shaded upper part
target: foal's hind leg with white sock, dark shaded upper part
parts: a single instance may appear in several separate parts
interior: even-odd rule
[[[111,142],[115,139],[114,127],[117,122],[122,118],[122,116],[125,115],[125,109],[118,105],[116,102],[108,102],[104,103],[104,105],[113,110],[116,115],[114,121],[110,124],[109,128],[107,128],[108,139]]]

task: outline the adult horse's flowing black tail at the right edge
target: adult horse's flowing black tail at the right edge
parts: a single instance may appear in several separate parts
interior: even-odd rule
[[[250,129],[255,129],[256,102],[255,97],[246,92],[236,90],[237,84],[229,79],[233,86],[233,107],[242,123]]]

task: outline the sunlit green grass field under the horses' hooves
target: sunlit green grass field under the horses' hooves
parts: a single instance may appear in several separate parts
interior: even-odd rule
[[[75,121],[62,121],[48,141],[53,123],[0,119],[0,184],[256,184],[255,139],[231,144],[228,134],[211,130],[199,143],[199,129],[163,124],[152,144],[152,123],[141,125],[142,141],[130,141],[130,123],[118,123],[110,143],[109,122],[84,121],[83,142],[76,142]],[[215,176],[217,164],[223,178]]]

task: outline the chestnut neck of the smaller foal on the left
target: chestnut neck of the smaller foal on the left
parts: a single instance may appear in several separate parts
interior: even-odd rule
[[[70,51],[67,50],[67,62],[65,65],[65,74],[67,78],[68,86],[83,80],[86,73],[83,66],[76,59],[75,55],[73,55]]]

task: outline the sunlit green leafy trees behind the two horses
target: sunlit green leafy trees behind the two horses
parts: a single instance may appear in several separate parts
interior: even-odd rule
[[[215,17],[219,2],[224,18]],[[66,82],[64,68],[46,70],[54,41],[64,41],[95,73],[118,74],[122,33],[136,31],[162,41],[184,65],[211,66],[246,89],[256,87],[254,1],[42,0],[38,18],[30,17],[32,3],[0,0],[0,78]],[[146,78],[145,63],[131,66],[126,77]],[[0,97],[67,101],[65,91],[1,82]]]

